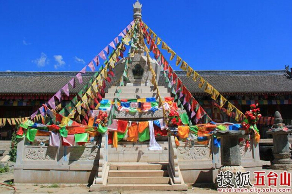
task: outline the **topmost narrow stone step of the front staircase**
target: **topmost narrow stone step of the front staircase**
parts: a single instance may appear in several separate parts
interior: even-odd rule
[[[166,170],[168,162],[109,162],[110,170]]]

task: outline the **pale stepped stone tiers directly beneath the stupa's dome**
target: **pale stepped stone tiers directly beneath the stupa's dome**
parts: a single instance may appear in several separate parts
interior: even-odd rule
[[[156,97],[156,92],[153,92],[152,86],[112,86],[109,88],[108,93],[105,94],[105,98],[103,99],[113,100],[114,97],[117,97],[117,89],[119,88],[121,89],[120,99]],[[161,97],[170,97],[170,93],[167,92],[167,88],[164,86],[159,86],[158,89]]]

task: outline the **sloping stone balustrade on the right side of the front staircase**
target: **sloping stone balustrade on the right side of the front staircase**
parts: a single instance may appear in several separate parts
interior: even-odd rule
[[[181,184],[182,180],[179,175],[179,161],[178,161],[178,151],[175,145],[174,137],[168,137],[168,163],[169,163],[169,173],[174,184]]]

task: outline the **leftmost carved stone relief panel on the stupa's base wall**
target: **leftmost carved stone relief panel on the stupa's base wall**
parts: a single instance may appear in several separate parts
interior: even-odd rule
[[[55,160],[57,152],[54,146],[27,146],[24,154],[26,160]]]

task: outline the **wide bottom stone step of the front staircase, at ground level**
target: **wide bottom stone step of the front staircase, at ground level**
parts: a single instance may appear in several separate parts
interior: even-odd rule
[[[90,191],[181,191],[187,190],[187,185],[170,184],[108,184],[106,186],[90,187]]]

